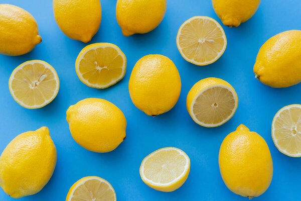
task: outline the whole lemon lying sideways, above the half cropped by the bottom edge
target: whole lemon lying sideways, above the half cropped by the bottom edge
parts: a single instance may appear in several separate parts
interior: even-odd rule
[[[73,139],[94,152],[112,151],[126,136],[126,120],[121,110],[100,98],[86,98],[70,106],[67,122]]]

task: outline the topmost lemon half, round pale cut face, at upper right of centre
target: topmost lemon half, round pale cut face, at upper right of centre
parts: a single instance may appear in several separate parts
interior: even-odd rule
[[[227,46],[225,32],[216,20],[196,16],[180,27],[177,46],[183,58],[196,65],[208,65],[222,56]]]

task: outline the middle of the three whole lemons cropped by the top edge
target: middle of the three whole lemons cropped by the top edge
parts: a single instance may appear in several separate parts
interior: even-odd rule
[[[116,18],[124,36],[144,34],[163,20],[166,0],[117,0]]]

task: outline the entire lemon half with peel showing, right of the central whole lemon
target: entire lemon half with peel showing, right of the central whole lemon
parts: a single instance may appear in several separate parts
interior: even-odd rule
[[[232,118],[238,106],[234,88],[225,80],[208,77],[190,89],[186,107],[191,118],[204,127],[217,127]]]

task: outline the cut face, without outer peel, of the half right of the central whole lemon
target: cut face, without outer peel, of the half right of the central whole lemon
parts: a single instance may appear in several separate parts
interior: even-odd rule
[[[221,86],[204,90],[193,105],[193,113],[199,122],[216,125],[227,120],[235,110],[233,93]]]

